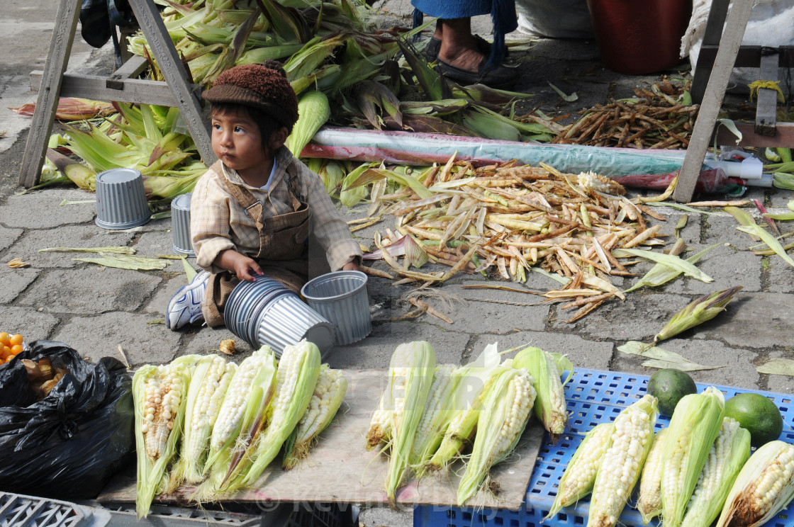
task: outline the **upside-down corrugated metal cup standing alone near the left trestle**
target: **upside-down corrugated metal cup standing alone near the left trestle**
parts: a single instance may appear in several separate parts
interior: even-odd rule
[[[97,175],[97,219],[102,229],[132,229],[152,218],[141,172],[112,168]]]

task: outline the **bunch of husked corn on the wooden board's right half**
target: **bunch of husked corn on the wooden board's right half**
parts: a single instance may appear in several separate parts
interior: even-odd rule
[[[391,503],[411,474],[420,479],[448,478],[457,459],[466,460],[458,483],[459,506],[488,489],[491,466],[514,451],[536,400],[549,406],[548,413],[538,414],[547,430],[558,431],[561,423],[565,427],[568,415],[557,364],[570,371],[572,364],[558,360],[553,367],[536,370],[545,375],[540,382],[523,366],[532,360],[526,355],[534,355],[534,350],[543,361],[557,359],[539,348],[527,348],[514,360],[501,362],[491,344],[472,363],[454,367],[437,365],[427,342],[395,349],[366,444],[368,449],[383,448],[389,456],[385,487]]]

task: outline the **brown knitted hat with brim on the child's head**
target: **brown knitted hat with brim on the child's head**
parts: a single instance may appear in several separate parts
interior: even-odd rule
[[[264,65],[235,66],[215,79],[202,97],[209,102],[226,102],[258,108],[292,131],[298,121],[298,98],[281,64],[267,60]]]

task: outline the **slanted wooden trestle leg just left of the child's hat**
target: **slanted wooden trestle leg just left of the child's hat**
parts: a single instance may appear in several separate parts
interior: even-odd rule
[[[209,167],[218,159],[210,143],[209,119],[202,117],[198,94],[191,89],[185,66],[176,53],[160,12],[152,0],[130,0],[129,5],[133,8],[138,25],[141,26],[152,55],[160,66],[160,72],[171,88],[176,106],[193,137],[198,153]]]

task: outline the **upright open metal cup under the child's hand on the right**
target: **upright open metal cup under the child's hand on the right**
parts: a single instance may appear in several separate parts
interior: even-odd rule
[[[301,289],[309,306],[333,322],[337,345],[352,344],[372,331],[367,295],[367,275],[361,271],[335,271],[310,280]]]

